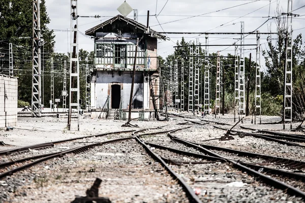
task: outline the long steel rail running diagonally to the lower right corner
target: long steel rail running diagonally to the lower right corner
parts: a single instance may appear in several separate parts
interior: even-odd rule
[[[301,190],[297,189],[297,188],[294,188],[288,184],[285,184],[284,182],[281,182],[281,181],[278,181],[274,178],[271,178],[269,176],[266,176],[260,172],[257,172],[245,165],[242,165],[242,163],[240,163],[239,161],[235,161],[235,160],[231,160],[231,159],[227,159],[217,153],[214,153],[214,152],[211,152],[203,147],[200,147],[199,145],[195,145],[195,144],[192,144],[186,140],[182,140],[180,138],[177,138],[177,137],[173,137],[172,136],[172,139],[174,141],[177,141],[179,143],[182,143],[182,144],[185,144],[185,145],[188,145],[188,146],[191,146],[197,150],[200,150],[200,151],[203,151],[204,153],[206,154],[210,154],[212,156],[216,156],[216,157],[220,157],[220,158],[223,158],[223,159],[226,159],[228,162],[231,162],[233,164],[233,166],[235,166],[236,168],[239,168],[241,171],[245,171],[249,174],[252,174],[256,177],[259,177],[260,179],[262,179],[263,181],[265,181],[266,184],[268,185],[271,185],[273,187],[276,187],[276,188],[279,188],[279,189],[282,189],[282,190],[285,190],[287,191],[288,193],[292,194],[292,195],[298,195],[300,197],[302,197],[303,199],[305,199],[305,193],[302,192]]]

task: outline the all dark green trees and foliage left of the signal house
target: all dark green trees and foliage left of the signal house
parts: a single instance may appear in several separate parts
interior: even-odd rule
[[[54,97],[61,98],[63,90],[64,61],[67,61],[67,90],[69,91],[70,53],[54,52],[54,32],[47,25],[50,23],[45,0],[40,3],[41,16],[41,66],[42,66],[42,104],[49,106],[51,98],[51,58],[54,66]],[[32,50],[33,50],[33,1],[2,0],[0,2],[0,74],[8,74],[9,43],[13,44],[14,76],[18,77],[18,106],[31,106],[32,102]],[[94,52],[79,50],[80,65],[80,98],[85,106],[85,69],[86,58],[89,68],[93,65]],[[69,97],[67,97],[67,103]],[[25,105],[26,104],[26,105]],[[62,105],[59,105],[60,107]]]

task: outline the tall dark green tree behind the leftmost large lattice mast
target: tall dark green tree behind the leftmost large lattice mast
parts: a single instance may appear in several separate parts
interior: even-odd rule
[[[5,55],[2,74],[8,74],[9,43],[13,44],[15,76],[18,76],[18,98],[31,103],[32,100],[32,37],[33,1],[2,0],[0,4],[0,53]],[[40,3],[41,29],[45,42],[44,50],[53,53],[54,34],[47,24],[50,22],[46,12],[45,0]],[[0,54],[1,55],[1,54]]]

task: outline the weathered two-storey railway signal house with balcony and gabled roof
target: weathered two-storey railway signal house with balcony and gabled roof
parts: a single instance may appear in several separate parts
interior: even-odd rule
[[[160,89],[157,40],[165,40],[165,37],[121,15],[87,30],[86,35],[95,39],[92,109],[102,109],[108,97],[110,109],[128,108],[138,38],[132,108],[133,111],[153,112],[150,90],[153,89],[155,95],[159,95]],[[157,108],[159,103],[159,99],[156,100]],[[138,117],[137,114],[135,116]]]

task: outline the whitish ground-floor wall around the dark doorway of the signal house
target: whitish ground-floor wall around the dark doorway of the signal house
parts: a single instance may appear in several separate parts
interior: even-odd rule
[[[110,102],[109,107],[112,109],[112,95],[111,86],[120,85],[120,94],[122,99],[122,108],[127,109],[130,99],[131,91],[131,77],[130,71],[97,71],[96,76],[93,77],[95,81],[92,81],[92,88],[95,92],[92,99],[92,104],[95,104],[97,109],[102,109],[106,103],[107,97],[109,96]],[[144,93],[144,81],[143,72],[136,72],[135,84],[133,90],[133,109],[143,109],[143,93]],[[146,95],[148,96],[148,95]],[[146,98],[148,99],[148,98]],[[145,104],[144,104],[145,108]]]

